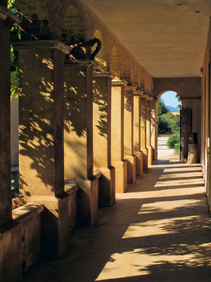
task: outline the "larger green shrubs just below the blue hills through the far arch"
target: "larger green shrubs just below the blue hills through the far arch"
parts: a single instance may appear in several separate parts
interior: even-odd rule
[[[158,133],[177,133],[179,131],[179,115],[174,116],[172,113],[162,114],[158,117]]]

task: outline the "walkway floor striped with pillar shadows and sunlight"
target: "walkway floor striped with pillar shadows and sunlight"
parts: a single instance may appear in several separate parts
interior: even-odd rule
[[[210,282],[211,224],[200,165],[159,154],[113,207],[100,210],[96,226],[75,232],[69,255],[34,266],[23,281]]]

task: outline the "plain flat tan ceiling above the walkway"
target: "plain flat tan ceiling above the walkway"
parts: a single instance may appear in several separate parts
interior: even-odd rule
[[[153,77],[200,76],[211,0],[84,0]]]

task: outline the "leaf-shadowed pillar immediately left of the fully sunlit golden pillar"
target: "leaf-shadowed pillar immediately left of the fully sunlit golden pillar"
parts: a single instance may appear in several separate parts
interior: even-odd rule
[[[99,178],[99,205],[111,207],[115,203],[115,168],[111,166],[111,80],[110,72],[94,74],[94,171]]]

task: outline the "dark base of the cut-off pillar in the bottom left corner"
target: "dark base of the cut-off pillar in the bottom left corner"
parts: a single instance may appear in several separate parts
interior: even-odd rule
[[[0,226],[0,281],[22,281],[21,228],[17,221]]]

